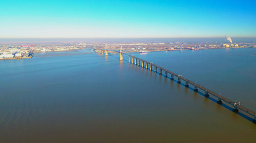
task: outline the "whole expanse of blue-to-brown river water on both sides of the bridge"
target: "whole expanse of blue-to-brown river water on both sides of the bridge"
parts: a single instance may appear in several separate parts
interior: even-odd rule
[[[133,54],[255,110],[255,53]],[[117,56],[83,49],[0,61],[0,142],[255,141],[247,119]]]

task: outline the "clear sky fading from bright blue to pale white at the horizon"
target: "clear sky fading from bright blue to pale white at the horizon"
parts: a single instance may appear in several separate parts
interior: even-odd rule
[[[256,37],[256,1],[2,0],[0,38]]]

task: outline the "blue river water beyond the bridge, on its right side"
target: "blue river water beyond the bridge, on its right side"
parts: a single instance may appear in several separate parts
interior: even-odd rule
[[[256,48],[133,54],[256,110]]]

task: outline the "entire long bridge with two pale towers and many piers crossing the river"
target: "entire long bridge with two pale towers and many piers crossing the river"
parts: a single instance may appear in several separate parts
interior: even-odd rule
[[[102,55],[103,55],[103,53],[105,53],[105,56],[108,56],[108,51],[113,52],[113,53],[118,53],[118,51],[107,50],[107,49],[105,49],[105,51],[95,50],[95,52],[100,53]],[[213,92],[209,89],[206,89],[203,86],[201,86],[201,85],[199,85],[199,84],[197,84],[197,83],[195,83],[191,80],[188,80],[187,78],[184,78],[181,75],[178,75],[178,74],[176,74],[174,72],[171,72],[167,69],[164,69],[164,68],[162,68],[158,65],[155,65],[152,62],[148,62],[148,61],[145,61],[143,59],[137,58],[136,56],[133,56],[133,55],[130,55],[130,54],[127,54],[127,53],[123,53],[121,49],[120,49],[120,52],[119,52],[119,60],[120,61],[123,60],[123,54],[126,54],[129,57],[128,61],[129,61],[130,64],[138,65],[138,66],[140,66],[142,68],[145,68],[147,70],[154,71],[155,73],[157,73],[157,69],[158,69],[159,75],[164,75],[164,77],[166,77],[166,78],[168,77],[168,75],[170,75],[171,80],[174,80],[174,78],[177,78],[177,82],[180,83],[180,84],[182,82],[184,82],[185,87],[188,88],[189,86],[192,86],[192,87],[194,87],[195,92],[199,92],[199,90],[200,90],[200,92],[204,93],[204,96],[206,98],[208,98],[209,96],[212,96],[212,97],[216,98],[218,104],[231,105],[231,107],[233,108],[232,110],[234,112],[242,111],[242,112],[246,113],[247,115],[249,115],[253,119],[253,122],[256,123],[256,112],[242,106],[240,102],[231,101],[231,100],[225,98],[224,96],[222,96],[220,94],[217,94],[217,93],[215,93],[215,92]]]

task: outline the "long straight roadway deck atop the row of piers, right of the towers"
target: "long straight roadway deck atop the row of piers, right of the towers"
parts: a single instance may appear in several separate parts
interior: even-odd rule
[[[176,73],[174,73],[174,72],[171,72],[171,71],[169,71],[169,70],[167,70],[167,69],[164,69],[164,68],[162,68],[162,67],[160,67],[160,66],[158,66],[158,65],[155,65],[155,64],[153,64],[153,63],[151,63],[151,62],[147,62],[147,61],[145,61],[145,60],[143,60],[143,59],[137,58],[136,56],[133,56],[133,55],[130,55],[130,54],[127,54],[127,55],[129,55],[129,56],[131,56],[131,57],[133,57],[133,58],[136,58],[136,59],[138,59],[138,60],[140,60],[140,61],[143,61],[143,62],[145,62],[145,63],[147,63],[147,64],[150,64],[150,65],[152,65],[152,66],[154,66],[154,67],[157,67],[157,68],[159,68],[159,69],[162,69],[163,71],[166,71],[167,73],[172,74],[172,75],[174,75],[174,76],[176,76],[176,77],[179,76],[178,74],[176,74]],[[186,79],[186,78],[184,78],[184,77],[182,77],[182,76],[179,76],[179,77],[180,77],[180,79],[182,79],[182,80],[184,80],[184,81],[187,81],[188,83],[190,83],[190,84],[192,84],[192,85],[198,87],[199,89],[201,89],[201,90],[203,90],[203,91],[207,91],[209,94],[211,94],[211,95],[213,95],[213,96],[215,96],[215,97],[217,97],[217,98],[220,98],[222,101],[225,101],[226,103],[228,103],[228,104],[234,106],[234,102],[231,101],[231,100],[229,100],[229,99],[227,99],[227,98],[225,98],[224,96],[221,96],[221,95],[219,95],[219,94],[217,94],[217,93],[215,93],[215,92],[213,92],[213,91],[210,91],[210,90],[208,90],[208,89],[202,87],[201,85],[199,85],[199,84],[197,84],[197,83],[195,83],[195,82],[193,82],[193,81],[190,81],[190,80],[188,80],[188,79]],[[238,106],[240,110],[243,110],[244,112],[248,113],[249,115],[251,115],[251,116],[253,116],[253,117],[254,117],[255,114],[256,114],[254,111],[252,111],[252,110],[250,110],[250,109],[248,109],[248,108],[246,108],[246,107],[244,107],[244,106],[241,106],[241,105],[236,105],[236,106]]]

